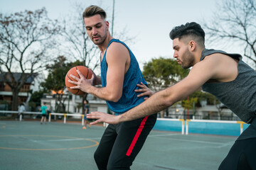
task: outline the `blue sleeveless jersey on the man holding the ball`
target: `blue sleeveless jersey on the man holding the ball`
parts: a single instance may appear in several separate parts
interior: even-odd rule
[[[127,49],[129,50],[129,47],[126,44],[124,44],[124,42],[117,39],[110,40],[109,44],[107,45],[107,48],[110,46],[112,42],[119,42],[125,47],[127,47]],[[107,50],[105,51],[103,59],[100,62],[102,87],[105,87],[107,85],[106,54],[107,54]],[[114,111],[114,113],[117,113],[117,114],[129,111],[129,109],[134,108],[135,106],[138,106],[140,103],[144,101],[144,97],[137,97],[139,93],[136,93],[134,90],[139,89],[137,84],[140,84],[141,82],[146,86],[147,84],[144,77],[142,76],[141,70],[139,69],[139,64],[131,50],[129,50],[129,55],[130,55],[130,65],[129,65],[129,69],[124,75],[122,97],[117,102],[106,101],[107,106],[110,108],[110,110]]]

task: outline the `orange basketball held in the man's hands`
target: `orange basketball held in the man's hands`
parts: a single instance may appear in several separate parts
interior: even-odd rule
[[[66,76],[65,76],[65,85],[66,85],[68,91],[70,91],[72,94],[82,96],[82,95],[85,94],[85,92],[81,91],[80,89],[70,89],[71,86],[76,86],[76,85],[71,84],[70,82],[68,82],[69,79],[72,80],[72,81],[76,81],[75,79],[70,77],[70,74],[74,75],[75,77],[79,77],[79,74],[76,71],[77,69],[82,73],[82,75],[85,77],[85,79],[91,79],[92,78],[92,70],[88,69],[85,66],[76,66],[76,67],[73,67],[72,69],[70,69],[68,71],[68,73],[66,74]]]

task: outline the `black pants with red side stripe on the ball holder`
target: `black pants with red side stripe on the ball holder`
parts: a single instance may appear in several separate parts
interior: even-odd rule
[[[155,123],[156,114],[108,125],[94,155],[98,169],[130,169]]]

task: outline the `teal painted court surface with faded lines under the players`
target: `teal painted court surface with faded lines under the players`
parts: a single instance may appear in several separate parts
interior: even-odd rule
[[[0,169],[96,170],[93,153],[105,128],[78,123],[0,121]],[[237,137],[153,130],[131,169],[218,169]]]

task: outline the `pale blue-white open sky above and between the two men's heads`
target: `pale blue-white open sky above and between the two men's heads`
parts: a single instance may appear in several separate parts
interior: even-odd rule
[[[142,69],[143,64],[152,58],[173,56],[169,38],[172,28],[192,21],[203,24],[203,20],[213,17],[216,4],[220,1],[115,0],[114,32],[122,32],[125,28],[127,36],[135,38],[134,42],[127,45]],[[58,19],[73,11],[74,2],[81,3],[84,8],[92,4],[102,7],[111,25],[113,0],[0,0],[0,13],[34,11],[46,7],[48,16]]]

